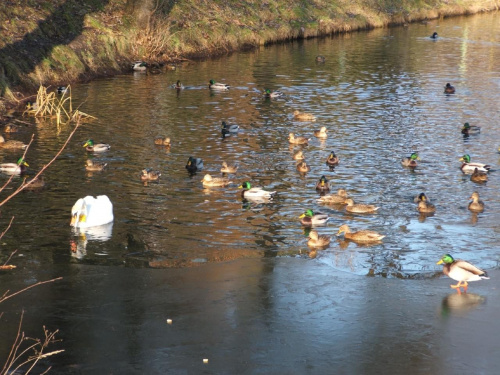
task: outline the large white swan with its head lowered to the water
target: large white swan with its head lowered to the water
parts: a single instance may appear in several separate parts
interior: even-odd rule
[[[80,198],[71,208],[70,225],[75,228],[89,228],[111,223],[113,204],[106,195]]]

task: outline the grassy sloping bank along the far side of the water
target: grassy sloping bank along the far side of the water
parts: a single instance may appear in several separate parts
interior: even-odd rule
[[[159,4],[159,5],[158,5]],[[270,43],[500,9],[499,0],[12,0],[0,5],[0,114],[40,84],[66,85],[145,60],[200,59]]]

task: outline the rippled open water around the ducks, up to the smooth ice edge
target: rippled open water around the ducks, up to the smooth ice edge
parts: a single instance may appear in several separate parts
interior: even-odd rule
[[[308,262],[313,274],[316,267],[320,273],[342,271],[340,275],[358,282],[364,275],[426,280],[440,274],[435,262],[446,252],[495,268],[500,253],[498,20],[494,13],[378,29],[185,63],[161,75],[131,73],[75,85],[74,105],[98,120],[78,130],[48,171],[44,190],[23,192],[2,207],[2,227],[15,216],[2,239],[2,258],[18,250],[11,263],[24,270],[17,272],[26,284],[61,274],[73,280],[93,272],[122,283],[124,273],[139,272],[132,268],[212,270],[217,268],[210,263],[241,258],[302,258],[296,263],[302,267],[309,249],[298,217],[311,208],[331,217],[328,225],[318,228],[320,234],[334,236],[347,223],[386,235],[375,246],[333,241]],[[436,30],[440,37],[434,41],[429,36]],[[318,54],[326,57],[324,64],[315,62]],[[210,79],[231,89],[210,92]],[[169,88],[177,80],[185,90]],[[443,94],[447,82],[456,87],[456,94]],[[265,88],[279,89],[286,98],[265,100]],[[294,121],[295,109],[313,113],[317,121]],[[223,120],[240,125],[239,134],[222,139]],[[464,122],[481,126],[481,134],[464,138]],[[328,128],[324,141],[312,136],[321,126]],[[35,134],[27,160],[36,171],[70,131],[71,126],[57,129],[52,123],[33,122],[11,138],[27,142]],[[292,155],[300,147],[288,144],[289,132],[312,138],[302,148],[311,166],[306,175],[295,169]],[[154,145],[160,135],[172,139],[170,150]],[[89,138],[111,144],[111,151],[86,153],[82,144]],[[329,171],[325,160],[332,150],[341,162]],[[415,171],[400,164],[412,151],[422,159]],[[497,170],[486,184],[475,184],[461,173],[458,159],[465,153]],[[189,156],[204,160],[202,172],[187,173]],[[0,162],[17,157],[16,152],[1,151]],[[88,173],[87,158],[105,161],[109,168]],[[239,164],[238,173],[229,176],[232,184],[203,188],[203,175],[220,176],[222,161]],[[145,186],[139,179],[145,167],[161,171],[160,181]],[[314,187],[321,175],[330,180],[333,191],[342,187],[356,202],[380,206],[378,213],[351,215],[319,205]],[[237,187],[246,180],[276,190],[277,198],[268,204],[243,202]],[[473,191],[486,204],[478,215],[467,209]],[[421,217],[416,211],[413,199],[420,192],[436,204],[434,216]],[[114,204],[113,225],[100,235],[74,233],[69,227],[72,205],[80,197],[98,194],[108,195]],[[93,271],[86,266],[104,267]],[[196,270],[175,272],[181,281],[171,281],[173,288],[181,288],[183,277],[190,283],[198,277]],[[15,272],[0,275],[0,280],[9,283],[12,277]],[[362,284],[369,284],[367,280],[373,279]],[[106,289],[106,281],[99,283],[104,285],[94,285],[92,291]],[[78,305],[67,295],[69,289],[59,289],[68,305],[52,313],[56,321],[66,308]],[[136,306],[135,299],[142,299],[143,293],[132,288],[130,303]],[[93,298],[93,293],[85,294],[85,299]],[[313,300],[322,304],[321,296],[317,298]],[[248,306],[241,308],[248,311]],[[76,315],[68,320],[78,321]],[[124,360],[119,357],[116,361]]]

